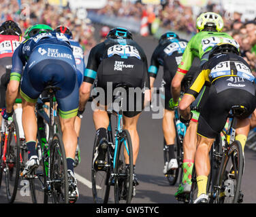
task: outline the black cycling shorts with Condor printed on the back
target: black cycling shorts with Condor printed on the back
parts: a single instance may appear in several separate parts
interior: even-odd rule
[[[255,110],[255,84],[241,79],[221,77],[210,86],[208,98],[199,116],[197,134],[206,138],[216,138],[223,130],[231,106],[242,105],[248,109],[244,118]]]

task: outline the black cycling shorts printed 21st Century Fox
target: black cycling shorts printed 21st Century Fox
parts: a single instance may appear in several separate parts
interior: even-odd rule
[[[141,94],[142,88],[144,88],[144,76],[147,73],[144,65],[144,62],[138,58],[125,59],[113,56],[103,59],[99,64],[93,93],[97,92],[95,87],[101,87],[104,91],[104,99],[101,104],[109,105],[114,102],[113,95],[116,94],[116,86],[123,83],[131,89],[126,92],[123,100],[123,114],[126,117],[138,115],[144,109],[144,94]]]

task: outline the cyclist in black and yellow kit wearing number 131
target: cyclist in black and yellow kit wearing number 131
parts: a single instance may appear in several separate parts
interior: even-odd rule
[[[244,150],[250,130],[248,117],[256,106],[254,79],[249,64],[240,56],[238,48],[231,43],[219,43],[212,48],[208,62],[179,103],[182,119],[188,120],[191,117],[189,105],[203,85],[210,85],[197,126],[195,169],[198,194],[195,203],[208,201],[206,184],[210,173],[209,151],[212,142],[225,126],[231,106],[241,105],[247,109],[236,125],[236,140],[240,141]]]

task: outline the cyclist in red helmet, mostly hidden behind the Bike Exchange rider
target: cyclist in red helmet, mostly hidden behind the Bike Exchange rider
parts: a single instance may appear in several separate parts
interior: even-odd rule
[[[82,50],[82,46],[79,44],[78,41],[73,40],[73,35],[69,28],[67,26],[58,26],[55,28],[57,33],[63,33],[70,41],[71,47],[73,49],[73,55],[76,60],[76,68],[77,68],[77,76],[78,76],[78,87],[82,84],[82,79],[84,75],[84,51]],[[81,120],[82,120],[82,115],[78,115],[76,117],[75,121],[75,130],[76,130],[76,135],[78,136],[78,142],[79,142],[79,134],[80,134],[80,128],[81,128]],[[74,167],[80,163],[81,158],[80,158],[80,148],[79,145],[76,146],[76,157],[74,159]]]

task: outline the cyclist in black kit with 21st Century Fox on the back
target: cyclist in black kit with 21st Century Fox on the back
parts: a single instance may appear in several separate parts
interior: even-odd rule
[[[148,66],[146,55],[142,48],[133,41],[131,33],[126,28],[112,28],[107,35],[107,39],[99,43],[91,50],[89,54],[88,64],[84,72],[84,82],[80,87],[80,106],[78,113],[84,111],[85,104],[89,99],[91,86],[97,76],[95,87],[103,88],[105,92],[105,104],[107,106],[107,82],[112,82],[112,90],[119,83],[126,83],[129,87],[147,87],[142,100],[136,99],[133,110],[124,111],[123,127],[131,134],[131,142],[133,146],[133,167],[139,152],[139,136],[137,132],[137,123],[142,109],[136,110],[139,104],[143,107],[143,98],[145,102],[150,101],[150,84],[148,77]],[[128,96],[127,96],[128,98]],[[127,99],[127,102],[129,100]],[[130,108],[127,103],[127,108]],[[95,109],[93,112],[93,120],[95,129],[99,135],[98,149],[93,159],[94,165],[102,165],[106,161],[106,148],[108,146],[107,128],[109,125],[108,114],[104,109]],[[136,178],[134,184],[138,184]]]

